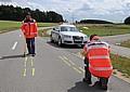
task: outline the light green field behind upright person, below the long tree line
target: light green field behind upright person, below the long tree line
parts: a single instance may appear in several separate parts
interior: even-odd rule
[[[0,32],[6,32],[14,29],[18,29],[22,25],[22,22],[12,22],[12,21],[0,21]],[[49,27],[55,26],[55,23],[38,23],[39,27]]]

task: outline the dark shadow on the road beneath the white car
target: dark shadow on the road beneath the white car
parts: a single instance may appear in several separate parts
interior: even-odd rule
[[[51,41],[47,41],[48,44],[54,47],[54,48],[58,48],[58,49],[82,49],[82,47],[79,45],[67,45],[64,44],[62,47],[58,47],[56,43],[52,43]]]

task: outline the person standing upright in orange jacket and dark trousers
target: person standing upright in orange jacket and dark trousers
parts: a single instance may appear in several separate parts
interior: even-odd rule
[[[37,23],[34,18],[31,18],[31,15],[29,13],[23,21],[21,29],[26,38],[28,55],[35,56],[35,37],[38,35]]]

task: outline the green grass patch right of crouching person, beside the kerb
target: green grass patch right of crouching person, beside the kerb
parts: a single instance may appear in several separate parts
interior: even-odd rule
[[[130,76],[130,58],[110,54],[112,63],[115,69]]]

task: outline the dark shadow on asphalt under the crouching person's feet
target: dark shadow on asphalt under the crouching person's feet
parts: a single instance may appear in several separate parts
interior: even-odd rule
[[[99,88],[98,82],[94,86],[89,87],[86,82],[79,81],[76,82],[76,86],[69,89],[67,92],[107,92]]]

